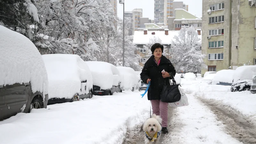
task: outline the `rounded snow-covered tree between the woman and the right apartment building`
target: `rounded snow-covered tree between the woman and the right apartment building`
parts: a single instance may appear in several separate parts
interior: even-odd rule
[[[172,40],[172,59],[177,71],[198,72],[201,68],[207,68],[204,58],[195,28],[181,28],[179,35]]]

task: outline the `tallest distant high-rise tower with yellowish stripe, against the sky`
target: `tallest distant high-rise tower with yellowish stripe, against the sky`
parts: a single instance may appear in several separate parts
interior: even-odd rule
[[[183,4],[183,2],[174,2],[173,0],[154,0],[155,7],[154,7],[154,22],[164,23],[167,25],[167,18],[173,17],[174,9],[182,8],[188,11],[188,5]],[[185,5],[185,6],[183,6]]]

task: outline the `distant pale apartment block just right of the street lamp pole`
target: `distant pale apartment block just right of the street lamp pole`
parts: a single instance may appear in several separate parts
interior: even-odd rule
[[[140,18],[142,17],[142,9],[133,9],[132,12],[124,12],[124,18],[132,19],[132,35],[134,31],[140,28]]]

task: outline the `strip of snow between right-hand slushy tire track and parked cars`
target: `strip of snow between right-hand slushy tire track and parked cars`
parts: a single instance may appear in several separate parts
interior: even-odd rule
[[[200,81],[187,82],[183,79],[182,88],[191,95],[212,100],[216,105],[244,117],[256,126],[256,94],[251,92],[230,92],[231,86],[211,85]]]

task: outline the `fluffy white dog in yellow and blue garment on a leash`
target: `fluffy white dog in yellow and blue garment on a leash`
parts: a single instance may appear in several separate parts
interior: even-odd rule
[[[145,144],[157,144],[159,142],[162,130],[162,118],[153,114],[151,118],[147,119],[143,125],[145,132]]]

